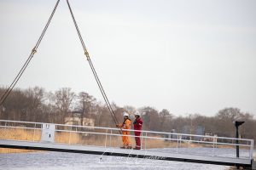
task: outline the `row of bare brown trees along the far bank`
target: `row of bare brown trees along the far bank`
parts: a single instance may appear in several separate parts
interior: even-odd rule
[[[0,96],[5,90],[6,88],[0,88]],[[240,127],[241,137],[256,140],[256,120],[251,113],[238,108],[224,108],[215,116],[201,114],[176,116],[166,109],[158,111],[151,106],[136,109],[131,105],[119,107],[112,103],[112,107],[119,122],[123,121],[123,111],[128,111],[131,115],[139,111],[142,114],[144,130],[161,132],[171,132],[175,129],[176,133],[184,133],[183,127],[189,127],[189,132],[186,133],[196,133],[196,127],[203,127],[205,133],[235,137],[236,128],[233,122],[239,118],[245,121]],[[107,105],[86,92],[76,94],[71,88],[61,88],[54,93],[39,87],[15,88],[0,106],[0,119],[62,124],[65,117],[71,116],[72,111],[79,111],[81,118],[93,118],[95,126],[115,127]]]

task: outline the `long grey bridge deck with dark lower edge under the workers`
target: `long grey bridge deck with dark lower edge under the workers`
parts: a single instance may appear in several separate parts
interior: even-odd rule
[[[0,147],[26,150],[49,150],[60,152],[73,152],[84,154],[95,154],[104,156],[129,156],[146,159],[158,159],[166,161],[187,161],[227,166],[252,167],[252,160],[217,156],[196,156],[189,154],[178,154],[173,152],[159,152],[154,150],[123,150],[119,148],[84,146],[71,144],[56,144],[44,142],[28,142],[17,140],[0,139]]]

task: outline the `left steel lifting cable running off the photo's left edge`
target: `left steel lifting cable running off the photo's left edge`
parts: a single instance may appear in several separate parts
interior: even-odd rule
[[[41,36],[38,39],[38,42],[36,43],[35,47],[32,48],[32,52],[29,55],[29,57],[26,59],[25,64],[22,66],[22,68],[20,69],[18,75],[15,77],[15,80],[11,83],[11,85],[9,86],[9,88],[4,92],[3,96],[0,99],[0,105],[3,105],[3,102],[5,101],[5,99],[7,99],[7,97],[9,96],[9,94],[11,93],[11,91],[13,90],[13,88],[15,88],[16,83],[20,80],[20,77],[22,76],[23,72],[26,70],[27,65],[30,63],[33,55],[37,52],[38,46],[40,44],[40,42],[42,41],[44,34],[49,26],[49,23],[51,21],[51,19],[53,18],[53,15],[55,14],[55,10],[59,4],[60,0],[57,1],[57,3],[55,4],[55,8],[53,9],[52,13],[49,16],[49,20],[46,23],[46,26],[44,26],[44,31],[42,32]]]

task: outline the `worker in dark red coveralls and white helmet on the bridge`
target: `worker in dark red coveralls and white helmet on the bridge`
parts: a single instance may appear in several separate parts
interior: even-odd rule
[[[134,127],[134,130],[136,130],[134,132],[136,146],[133,149],[140,150],[141,149],[141,130],[143,128],[143,120],[142,120],[139,112],[135,113],[135,120],[133,122],[133,127]]]

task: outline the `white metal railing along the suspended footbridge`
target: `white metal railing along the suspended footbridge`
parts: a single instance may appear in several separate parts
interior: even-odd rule
[[[0,120],[0,139],[27,140],[45,142],[43,122],[18,122]],[[128,136],[132,145],[135,130],[127,130],[129,135],[119,133],[119,128],[90,127],[66,124],[51,124],[54,128],[54,143],[98,145],[118,147],[121,137]],[[204,156],[236,157],[236,146],[240,147],[240,158],[253,159],[253,139],[236,139],[210,135],[187,133],[141,132],[142,150],[154,150],[170,153],[185,153]],[[236,144],[236,140],[239,144]]]

